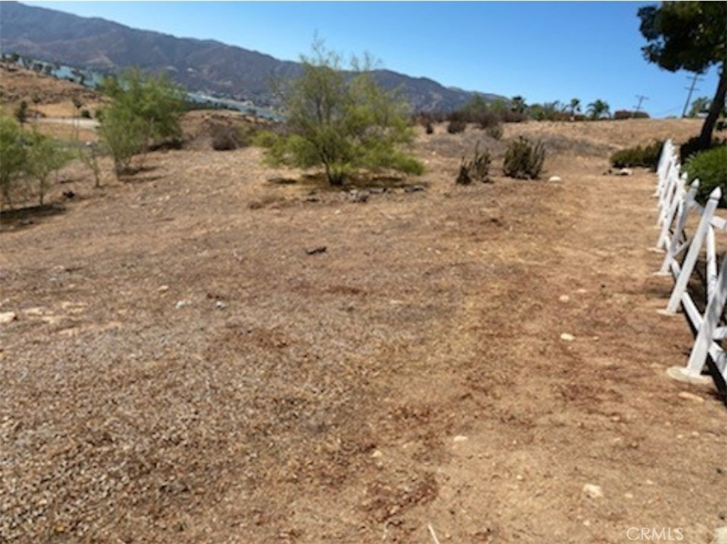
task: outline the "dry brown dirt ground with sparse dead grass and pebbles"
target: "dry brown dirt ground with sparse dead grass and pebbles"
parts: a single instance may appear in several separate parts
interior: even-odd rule
[[[467,187],[504,143],[438,127],[365,203],[255,148],[69,167],[0,234],[0,542],[710,543],[727,410],[665,375],[654,174],[603,175],[698,127],[509,125],[563,181]]]

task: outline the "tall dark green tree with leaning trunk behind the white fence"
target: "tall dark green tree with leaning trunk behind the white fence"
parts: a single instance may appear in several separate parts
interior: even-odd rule
[[[702,73],[718,67],[717,91],[699,135],[699,146],[709,147],[727,92],[727,2],[662,2],[640,8],[638,17],[648,42],[642,51],[650,62],[672,72]]]

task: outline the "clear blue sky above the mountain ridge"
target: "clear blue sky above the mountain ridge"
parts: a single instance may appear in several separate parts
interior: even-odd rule
[[[317,32],[345,56],[369,52],[382,67],[448,87],[522,95],[527,103],[600,98],[611,112],[680,115],[693,74],[646,62],[630,1],[26,1],[84,17],[298,60]],[[712,97],[717,72],[696,85]]]

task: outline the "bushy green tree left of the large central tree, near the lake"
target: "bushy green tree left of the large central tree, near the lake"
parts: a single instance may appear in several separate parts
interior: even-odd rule
[[[180,137],[184,91],[165,75],[129,70],[105,79],[102,89],[111,105],[103,110],[100,135],[117,176],[129,173],[134,155],[153,143]]]

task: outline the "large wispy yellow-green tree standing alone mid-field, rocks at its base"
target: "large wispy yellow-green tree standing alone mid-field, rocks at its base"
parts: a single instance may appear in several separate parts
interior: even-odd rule
[[[370,62],[354,61],[348,75],[318,39],[313,57],[301,61],[302,75],[281,89],[289,134],[276,138],[268,161],[322,165],[330,185],[342,185],[356,169],[422,172],[422,164],[400,149],[414,137],[408,107],[398,92],[379,87]]]

